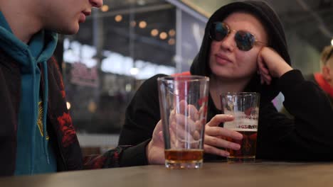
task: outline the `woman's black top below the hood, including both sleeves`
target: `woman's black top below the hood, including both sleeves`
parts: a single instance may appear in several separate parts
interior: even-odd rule
[[[155,125],[161,119],[157,77],[162,76],[165,75],[148,79],[135,94],[126,111],[119,145],[137,145],[152,137]],[[278,113],[271,102],[260,102],[257,158],[333,160],[333,111],[322,90],[311,81],[305,81],[297,70],[280,77],[278,87],[285,96],[285,107],[296,118],[290,120]],[[221,111],[209,96],[207,120],[218,113]]]

